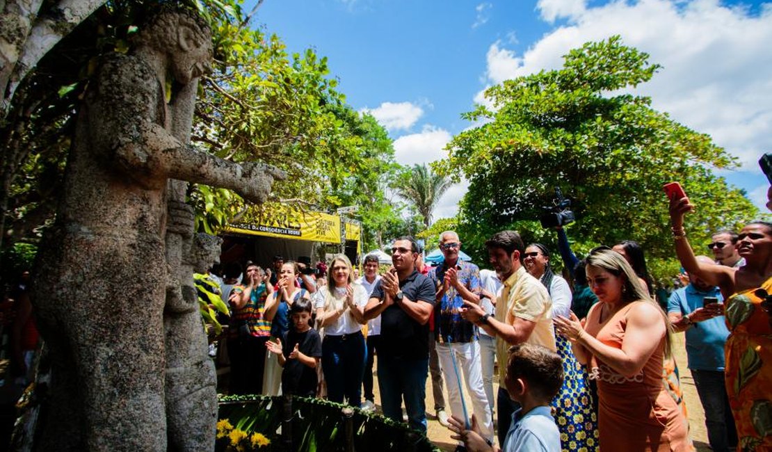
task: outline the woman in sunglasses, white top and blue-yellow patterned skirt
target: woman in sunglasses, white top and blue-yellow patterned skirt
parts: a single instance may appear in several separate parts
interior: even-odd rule
[[[537,278],[552,299],[552,316],[571,315],[571,288],[560,275],[550,267],[550,251],[540,243],[527,246],[523,265],[528,273]],[[554,398],[554,417],[560,429],[560,443],[563,450],[598,449],[598,420],[593,411],[592,396],[587,382],[587,373],[577,363],[571,342],[562,336],[555,338],[557,354],[563,361],[563,386]]]

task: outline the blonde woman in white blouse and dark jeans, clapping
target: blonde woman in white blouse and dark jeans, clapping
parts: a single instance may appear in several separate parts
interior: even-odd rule
[[[327,399],[357,408],[361,404],[362,377],[367,358],[362,326],[367,292],[354,282],[351,261],[336,255],[327,269],[324,305],[317,308],[317,321],[324,329],[322,372]]]

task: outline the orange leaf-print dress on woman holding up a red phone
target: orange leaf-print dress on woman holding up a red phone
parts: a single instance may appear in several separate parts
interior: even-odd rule
[[[772,278],[761,286],[772,293]],[[756,289],[726,300],[726,393],[732,407],[737,450],[772,450],[772,319]]]

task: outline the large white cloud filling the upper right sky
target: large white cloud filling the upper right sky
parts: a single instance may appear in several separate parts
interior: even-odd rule
[[[757,13],[718,0],[639,0],[597,7],[583,0],[540,0],[542,19],[565,19],[523,56],[494,42],[487,53],[485,85],[554,69],[569,49],[621,35],[663,67],[636,93],[673,120],[709,133],[757,171],[772,149],[772,5]],[[482,92],[475,100],[482,100]]]

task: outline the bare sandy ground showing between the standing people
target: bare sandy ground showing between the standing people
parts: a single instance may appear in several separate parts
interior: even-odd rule
[[[686,368],[686,346],[684,345],[684,335],[683,333],[675,334],[674,335],[674,342],[673,342],[673,350],[675,354],[675,360],[678,363],[679,366],[679,372],[681,375],[681,387],[684,393],[684,400],[686,400],[686,408],[689,411],[689,434],[692,437],[692,441],[694,442],[694,445],[696,447],[696,450],[699,452],[703,451],[709,451],[711,450],[708,446],[708,435],[705,429],[705,414],[703,413],[703,406],[701,403],[699,403],[699,396],[697,396],[697,390],[694,386],[694,380],[692,379],[692,374],[689,373],[689,369]],[[376,363],[376,366],[378,364]],[[375,393],[375,404],[377,406],[377,409],[381,409],[381,401],[379,400],[378,395],[378,376],[374,376],[374,379],[376,379],[376,387],[374,390]],[[493,393],[496,394],[499,390],[499,385],[494,383],[493,385]],[[466,397],[466,405],[471,406],[471,402],[469,401],[469,396],[466,394],[466,388],[465,388],[465,397]],[[447,396],[447,390],[445,390],[445,402],[447,403],[448,396]],[[426,406],[428,407],[428,410],[431,410],[434,407],[434,396],[432,396],[432,381],[431,378],[428,378],[426,380]],[[449,412],[449,408],[446,408]],[[451,432],[445,427],[442,427],[440,423],[435,418],[435,413],[427,411],[426,417],[428,418],[428,437],[432,442],[439,447],[442,450],[454,450],[455,449],[455,441],[451,439],[450,435]],[[494,414],[494,419],[496,418],[496,415]]]

